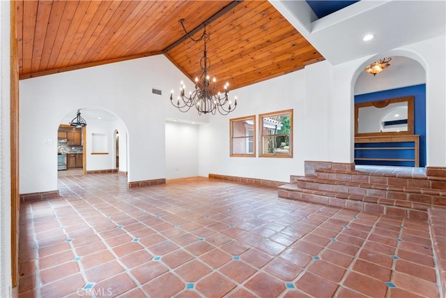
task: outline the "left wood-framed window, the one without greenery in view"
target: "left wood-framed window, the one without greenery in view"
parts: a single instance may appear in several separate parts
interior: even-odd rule
[[[229,119],[230,156],[256,156],[256,117]]]

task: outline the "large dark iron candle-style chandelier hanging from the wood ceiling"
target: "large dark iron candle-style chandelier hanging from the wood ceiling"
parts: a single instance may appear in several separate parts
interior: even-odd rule
[[[174,90],[171,91],[170,94],[170,102],[175,107],[178,107],[178,110],[180,112],[187,112],[190,110],[191,107],[197,108],[198,114],[207,114],[212,113],[215,114],[216,111],[218,111],[222,115],[227,115],[233,110],[236,110],[237,107],[237,96],[234,98],[234,104],[231,105],[231,100],[229,100],[229,83],[226,82],[224,84],[224,94],[220,94],[220,92],[217,92],[215,94],[215,82],[217,80],[215,77],[212,80],[212,86],[210,83],[210,76],[208,75],[208,70],[210,67],[210,60],[208,59],[207,52],[206,52],[206,43],[208,43],[209,40],[209,34],[206,33],[206,23],[204,24],[204,31],[200,38],[194,39],[192,36],[190,36],[189,33],[187,33],[187,30],[184,27],[184,19],[179,20],[181,23],[181,26],[183,26],[183,29],[187,36],[189,36],[190,39],[192,39],[195,43],[199,42],[200,40],[204,41],[204,52],[203,57],[200,59],[200,68],[201,68],[201,75],[199,77],[195,77],[195,89],[194,91],[189,92],[189,96],[185,95],[185,84],[183,81],[180,83],[180,95],[177,97],[176,103],[174,103],[173,100],[173,94]],[[226,107],[227,105],[227,107]]]

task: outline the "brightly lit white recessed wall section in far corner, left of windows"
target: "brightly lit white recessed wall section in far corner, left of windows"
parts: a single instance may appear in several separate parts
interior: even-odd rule
[[[166,121],[166,179],[199,175],[198,131],[194,124]]]

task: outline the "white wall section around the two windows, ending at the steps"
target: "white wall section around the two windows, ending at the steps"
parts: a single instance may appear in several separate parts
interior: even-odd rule
[[[209,124],[199,128],[199,174],[209,173],[238,177],[289,181],[289,175],[300,172],[307,151],[305,139],[305,73],[298,71],[272,80],[232,91],[238,97],[237,108],[227,116],[210,117]],[[229,157],[229,119],[279,110],[293,109],[294,158]],[[256,128],[258,130],[258,127]],[[256,132],[256,156],[259,139]]]

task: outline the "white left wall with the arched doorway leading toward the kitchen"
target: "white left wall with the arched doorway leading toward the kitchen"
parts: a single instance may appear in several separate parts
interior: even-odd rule
[[[57,127],[79,107],[102,107],[123,121],[129,181],[166,177],[166,117],[199,119],[169,103],[167,90],[180,80],[187,82],[159,55],[20,81],[20,193],[57,189]],[[152,94],[152,88],[164,95]]]

